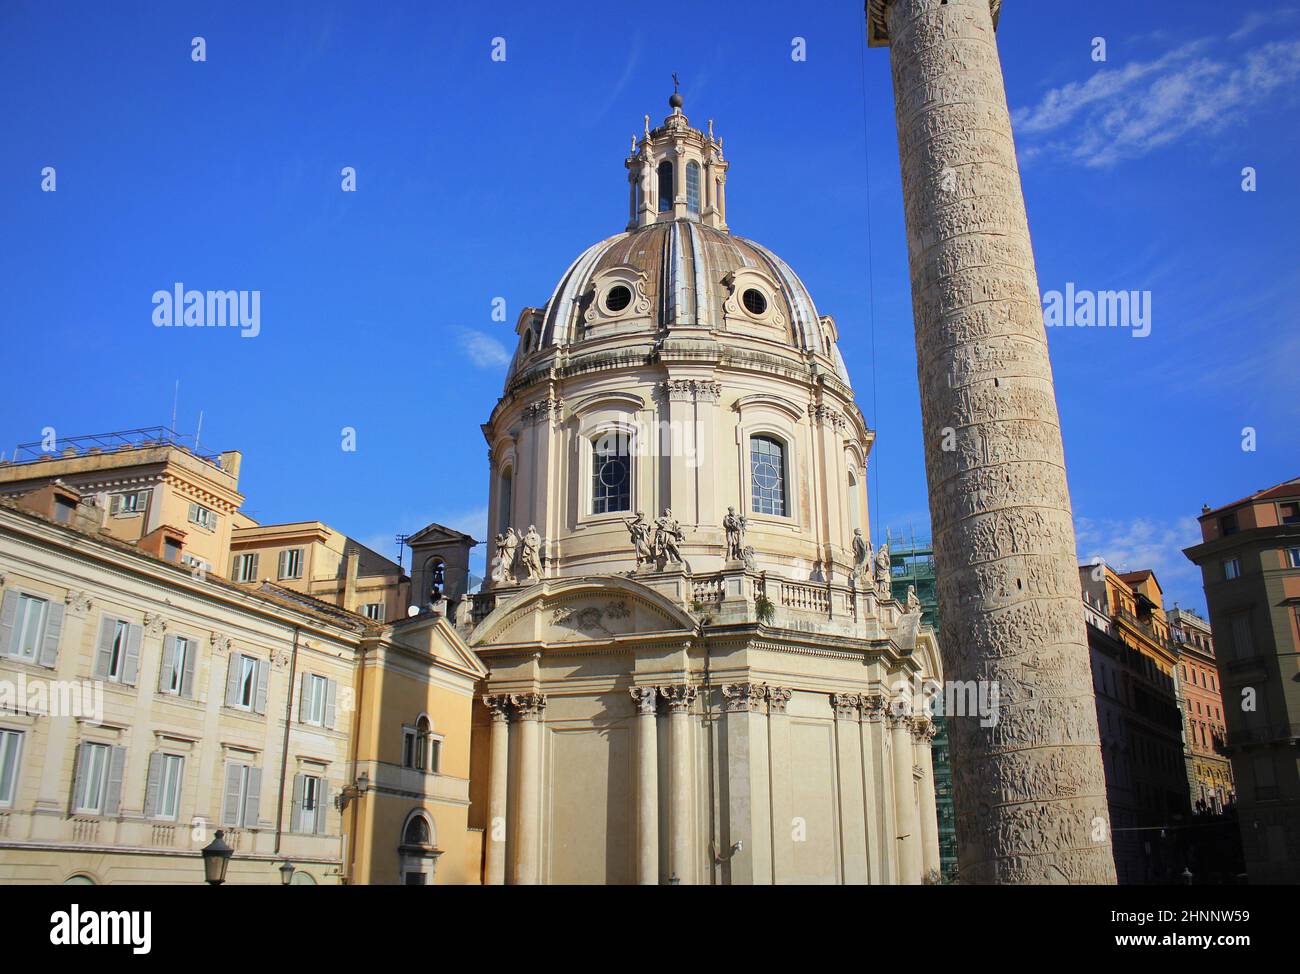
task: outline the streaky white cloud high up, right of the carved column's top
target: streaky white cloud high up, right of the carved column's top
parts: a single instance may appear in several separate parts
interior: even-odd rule
[[[1244,40],[1275,18],[1247,17],[1230,35]],[[1275,35],[1275,33],[1274,33]],[[1084,82],[1048,91],[1013,112],[1024,142],[1022,159],[1065,159],[1110,166],[1184,137],[1210,135],[1245,121],[1279,91],[1300,81],[1300,40],[1269,40],[1226,49],[1202,38],[1147,61],[1101,68]]]

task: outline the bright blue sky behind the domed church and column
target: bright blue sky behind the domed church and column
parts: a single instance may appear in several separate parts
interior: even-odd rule
[[[677,72],[725,139],[732,229],[838,322],[879,432],[875,532],[926,533],[888,53],[861,3],[462,7],[0,7],[0,449],[168,423],[179,380],[178,428],[202,410],[203,449],[243,451],[260,520],[482,537],[515,317],[623,228],[629,137]],[[1080,555],[1202,607],[1179,553],[1201,503],[1300,473],[1300,13],[1013,0],[1000,44],[1043,290],[1152,295],[1145,338],[1049,330]],[[260,290],[261,333],[155,328],[177,281]]]

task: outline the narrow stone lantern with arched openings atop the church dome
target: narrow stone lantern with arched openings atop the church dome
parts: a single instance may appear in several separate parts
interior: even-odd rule
[[[672,75],[672,112],[658,129],[650,129],[640,142],[632,137],[628,168],[628,229],[671,220],[693,220],[718,230],[727,229],[727,168],[723,140],[690,127],[681,112],[677,75]]]

